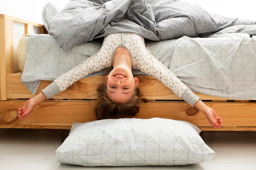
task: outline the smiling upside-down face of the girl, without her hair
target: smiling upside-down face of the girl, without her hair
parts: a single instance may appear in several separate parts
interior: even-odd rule
[[[116,67],[106,76],[107,94],[115,103],[125,103],[131,99],[139,79],[133,77],[129,68]]]

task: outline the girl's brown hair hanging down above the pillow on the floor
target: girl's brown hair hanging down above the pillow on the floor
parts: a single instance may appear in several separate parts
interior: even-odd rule
[[[112,102],[107,95],[106,84],[102,83],[97,88],[98,100],[95,106],[95,113],[98,119],[109,119],[116,115],[134,116],[139,112],[137,104],[142,102],[139,88],[136,87],[131,99],[126,103]]]

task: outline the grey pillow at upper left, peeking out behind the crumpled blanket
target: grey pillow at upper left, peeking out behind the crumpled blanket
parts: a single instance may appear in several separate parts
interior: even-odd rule
[[[42,11],[43,25],[47,32],[49,32],[49,21],[52,19],[52,17],[54,17],[54,15],[56,15],[60,11],[61,11],[60,8],[58,8],[57,6],[49,2],[46,3],[45,6],[43,7],[43,11]]]

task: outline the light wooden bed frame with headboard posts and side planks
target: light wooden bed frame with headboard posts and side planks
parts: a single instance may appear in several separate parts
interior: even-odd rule
[[[36,106],[27,119],[18,119],[18,108],[34,95],[20,82],[21,73],[14,73],[13,22],[23,23],[25,34],[33,33],[33,27],[39,27],[40,33],[44,33],[43,25],[0,15],[0,128],[69,129],[73,122],[96,120],[94,99],[97,84],[104,81],[104,76],[81,79],[64,92]],[[197,93],[222,117],[223,127],[216,129],[210,126],[203,113],[177,97],[157,79],[151,76],[137,77],[141,93],[147,99],[146,103],[139,104],[137,118],[184,120],[201,130],[256,131],[255,100],[231,100]],[[42,81],[38,93],[50,83]]]

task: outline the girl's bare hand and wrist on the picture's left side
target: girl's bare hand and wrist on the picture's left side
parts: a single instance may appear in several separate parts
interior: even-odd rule
[[[46,97],[42,92],[36,95],[35,97],[29,99],[22,108],[19,108],[18,117],[20,119],[27,118],[32,113],[36,105],[40,104],[45,100],[46,100]]]

